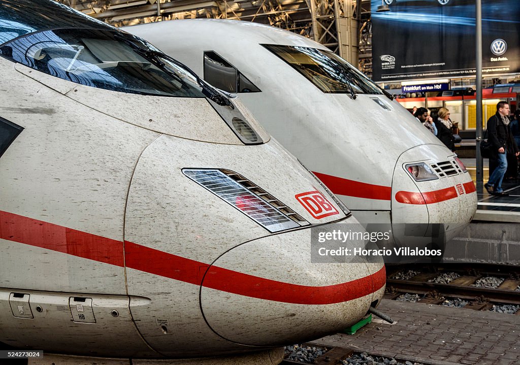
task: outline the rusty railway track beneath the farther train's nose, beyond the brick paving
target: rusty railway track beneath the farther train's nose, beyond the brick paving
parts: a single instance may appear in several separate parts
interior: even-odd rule
[[[411,270],[411,271],[410,271]],[[410,273],[407,277],[407,273]],[[415,273],[417,272],[417,273]],[[458,275],[453,280],[435,282],[443,273]],[[454,275],[453,275],[454,276]],[[493,278],[502,282],[496,288],[475,286],[477,282]],[[441,304],[445,297],[456,297],[470,301],[464,308],[487,310],[493,304],[520,305],[520,267],[486,264],[435,264],[396,265],[387,267],[385,296],[394,299],[402,293],[423,296],[418,302]],[[516,312],[520,315],[520,310]]]

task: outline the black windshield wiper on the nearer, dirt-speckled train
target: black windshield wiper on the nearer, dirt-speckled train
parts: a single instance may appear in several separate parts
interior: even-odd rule
[[[172,75],[177,79],[179,82],[184,84],[185,86],[188,86],[183,80],[180,79],[180,77],[175,74],[174,72],[168,70],[167,67],[165,67],[165,63],[161,61],[161,58],[166,59],[172,63],[174,63],[176,66],[180,67],[181,69],[184,69],[188,71],[197,81],[197,84],[202,88],[202,94],[204,94],[208,99],[216,102],[218,105],[221,106],[229,106],[231,109],[235,109],[235,106],[233,106],[233,103],[231,100],[226,97],[225,95],[219,93],[213,86],[210,86],[210,84],[206,83],[204,80],[202,80],[199,75],[197,75],[195,72],[193,72],[191,69],[189,69],[185,64],[180,63],[176,59],[160,52],[157,50],[153,50],[150,48],[143,48],[132,42],[129,37],[134,38],[136,42],[142,43],[139,38],[132,34],[128,34],[128,37],[123,36],[122,34],[116,33],[114,34],[114,37],[120,41],[123,41],[128,46],[132,47],[136,51],[137,54],[139,54],[142,57],[145,57],[155,64],[155,66],[159,67],[161,70],[165,71],[169,75]]]

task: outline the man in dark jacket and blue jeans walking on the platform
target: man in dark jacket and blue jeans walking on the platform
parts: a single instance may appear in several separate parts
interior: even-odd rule
[[[502,179],[505,171],[508,170],[508,160],[506,152],[518,156],[518,146],[511,134],[509,126],[509,104],[500,101],[497,104],[497,113],[489,118],[487,123],[488,140],[491,141],[493,148],[490,159],[496,160],[497,168],[489,176],[488,183],[484,185],[488,193],[505,197],[509,195],[502,190]]]

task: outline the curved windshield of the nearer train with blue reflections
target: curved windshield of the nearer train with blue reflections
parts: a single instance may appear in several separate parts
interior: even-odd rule
[[[78,84],[123,93],[203,98],[196,76],[138,37],[57,29],[15,38],[0,56]]]

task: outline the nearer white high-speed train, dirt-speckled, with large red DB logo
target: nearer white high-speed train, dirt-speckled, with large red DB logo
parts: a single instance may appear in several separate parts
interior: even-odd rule
[[[272,364],[380,302],[381,260],[310,262],[359,224],[238,99],[50,0],[0,23],[0,348]]]

